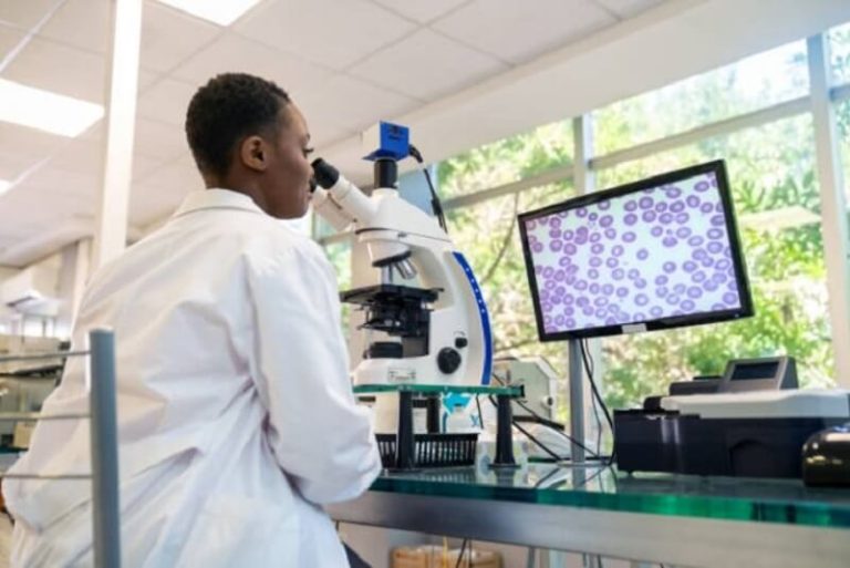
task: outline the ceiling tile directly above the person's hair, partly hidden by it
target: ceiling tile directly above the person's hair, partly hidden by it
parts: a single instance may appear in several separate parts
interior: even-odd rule
[[[315,85],[330,71],[279,50],[227,33],[189,58],[173,75],[200,86],[218,73],[251,73],[274,81],[290,93]]]

